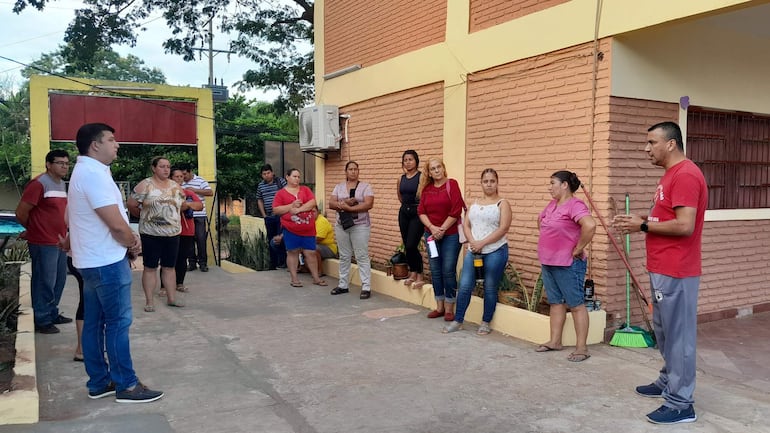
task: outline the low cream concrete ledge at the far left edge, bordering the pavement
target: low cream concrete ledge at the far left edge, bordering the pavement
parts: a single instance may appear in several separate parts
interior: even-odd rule
[[[19,278],[19,323],[16,332],[16,364],[12,391],[0,394],[0,424],[33,424],[40,418],[35,364],[35,320],[30,298],[32,266],[21,267]]]

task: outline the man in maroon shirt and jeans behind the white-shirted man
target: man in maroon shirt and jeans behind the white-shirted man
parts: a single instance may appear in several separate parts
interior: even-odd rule
[[[32,257],[32,308],[35,330],[56,334],[56,325],[72,319],[59,314],[64,283],[67,279],[67,254],[61,241],[67,237],[64,212],[67,192],[64,176],[69,170],[69,154],[52,150],[45,156],[46,172],[32,179],[24,188],[16,207],[16,219],[27,230],[21,237],[27,240]]]

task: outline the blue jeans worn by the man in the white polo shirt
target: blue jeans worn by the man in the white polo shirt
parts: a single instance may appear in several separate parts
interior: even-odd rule
[[[128,259],[99,268],[80,269],[83,275],[83,360],[89,391],[110,381],[117,391],[136,385],[128,328],[131,326],[131,268]],[[173,290],[173,288],[169,288]],[[109,364],[104,360],[107,352]]]

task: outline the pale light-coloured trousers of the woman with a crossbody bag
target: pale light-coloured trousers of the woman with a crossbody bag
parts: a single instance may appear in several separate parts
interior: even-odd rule
[[[339,224],[334,226],[337,250],[340,253],[339,287],[350,288],[350,259],[355,255],[358,275],[361,277],[361,290],[372,289],[372,264],[369,259],[370,233],[369,226],[354,225],[347,230],[343,230]]]

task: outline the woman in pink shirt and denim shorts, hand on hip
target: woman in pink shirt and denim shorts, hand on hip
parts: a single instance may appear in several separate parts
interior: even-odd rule
[[[583,250],[596,232],[596,222],[588,207],[573,196],[579,187],[580,180],[571,171],[562,170],[551,175],[553,200],[540,212],[537,220],[540,229],[537,255],[551,305],[551,338],[537,351],[562,350],[561,334],[569,307],[577,336],[575,351],[567,357],[573,362],[591,357],[586,345],[588,310],[584,304],[586,257]]]

